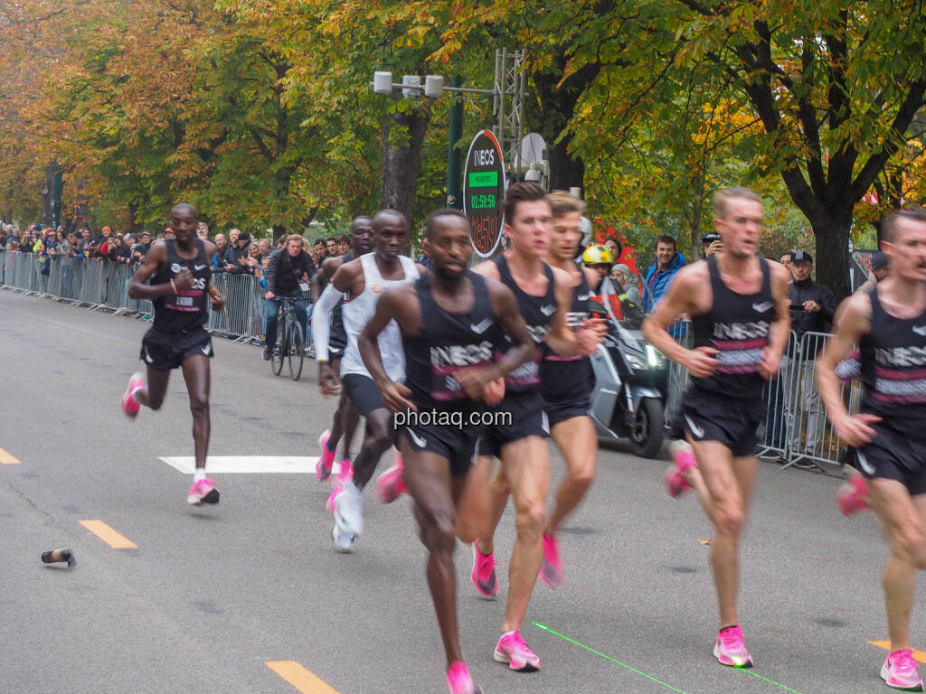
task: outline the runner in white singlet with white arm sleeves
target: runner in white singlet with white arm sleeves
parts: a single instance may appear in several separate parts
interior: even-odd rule
[[[367,431],[360,452],[354,461],[353,481],[345,481],[329,501],[334,514],[332,539],[340,551],[351,551],[357,535],[363,533],[363,503],[361,490],[366,487],[382,453],[392,445],[392,413],[382,401],[380,390],[370,378],[367,367],[360,359],[357,338],[360,331],[373,316],[376,303],[382,292],[390,287],[419,279],[419,267],[415,261],[400,255],[407,236],[407,221],[395,210],[382,210],[373,217],[373,253],[340,266],[332,277],[331,284],[322,292],[315,308],[316,320],[312,321],[312,336],[316,343],[319,360],[319,385],[328,395],[340,392],[329,360],[329,316],[332,308],[342,301],[345,293],[351,296],[344,302],[342,312],[344,329],[347,332],[347,348],[341,360],[341,383],[344,391],[357,406],[361,415],[367,418]],[[423,269],[423,268],[421,268]],[[388,326],[380,335],[380,352],[389,369],[389,376],[396,382],[405,379],[405,357],[402,353],[402,336],[398,326]],[[389,471],[391,487],[404,485],[401,466]],[[397,496],[394,493],[392,499]]]

